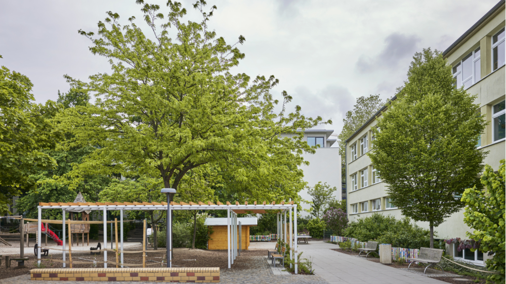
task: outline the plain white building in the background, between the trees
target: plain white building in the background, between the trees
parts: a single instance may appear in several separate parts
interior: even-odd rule
[[[309,165],[301,165],[302,171],[304,171],[304,181],[307,182],[308,187],[313,187],[318,182],[327,183],[330,187],[335,187],[337,190],[334,192],[336,200],[342,199],[342,184],[341,184],[341,155],[339,154],[338,147],[332,147],[335,143],[335,139],[328,139],[334,132],[333,130],[327,129],[309,129],[304,131],[304,141],[307,141],[309,145],[319,145],[316,149],[316,153],[303,153],[304,160],[309,162]],[[282,134],[282,137],[294,137],[296,134]],[[304,189],[299,192],[299,196],[307,201],[311,201],[312,198],[308,194],[308,190]],[[309,210],[310,204],[302,203],[302,209]],[[302,216],[307,216],[310,213],[301,210]]]

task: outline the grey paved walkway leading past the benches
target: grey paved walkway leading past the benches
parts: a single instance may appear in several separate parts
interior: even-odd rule
[[[314,257],[313,268],[315,269],[315,274],[325,279],[329,284],[446,283],[427,276],[331,250],[335,248],[339,248],[339,246],[316,241],[309,242],[309,245],[301,244],[298,246],[299,252],[303,252],[302,258]]]

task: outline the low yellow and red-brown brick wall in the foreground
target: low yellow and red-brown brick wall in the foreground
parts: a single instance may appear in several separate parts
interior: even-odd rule
[[[220,268],[32,269],[30,280],[220,282]]]

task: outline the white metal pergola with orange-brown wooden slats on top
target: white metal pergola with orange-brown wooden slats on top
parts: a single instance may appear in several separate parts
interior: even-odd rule
[[[284,201],[280,204],[276,204],[275,202],[271,202],[266,204],[264,201],[263,204],[254,204],[248,205],[247,202],[245,204],[239,204],[239,202],[235,202],[235,204],[231,204],[227,202],[223,204],[221,202],[217,202],[218,204],[214,204],[212,202],[198,202],[197,203],[185,203],[185,202],[171,202],[170,205],[166,202],[86,202],[86,203],[39,203],[38,206],[38,263],[40,264],[40,248],[41,248],[41,215],[42,209],[62,209],[63,210],[63,236],[65,236],[65,211],[66,210],[92,210],[92,211],[100,211],[104,212],[104,249],[107,248],[107,211],[120,211],[120,239],[121,239],[121,247],[120,250],[123,250],[123,210],[166,210],[168,211],[167,216],[169,218],[169,223],[172,223],[172,210],[227,210],[227,239],[228,239],[228,268],[231,268],[231,265],[234,264],[234,260],[238,255],[238,246],[237,246],[237,233],[238,233],[238,222],[237,222],[237,214],[238,213],[266,213],[265,210],[279,210],[277,213],[277,226],[278,226],[278,239],[283,239],[285,243],[289,242],[290,246],[290,258],[293,259],[295,264],[295,273],[298,271],[298,260],[297,260],[297,204],[293,204],[293,201],[289,201],[285,203]],[[291,220],[293,210],[293,226],[290,221],[289,232],[286,232],[286,211],[289,212],[289,220]],[[282,214],[284,213],[284,221]],[[280,224],[283,224],[282,228],[280,228]],[[240,229],[239,229],[240,230]],[[294,233],[295,232],[295,233]],[[293,238],[287,238],[287,236],[293,236]],[[172,267],[172,226],[168,226],[168,236],[169,236],[169,251],[168,253],[168,267]],[[289,240],[287,240],[289,239]],[[111,240],[112,241],[112,240]],[[66,241],[65,237],[63,238],[63,250],[65,250]],[[63,254],[63,261],[65,261],[65,253]],[[123,253],[121,253],[121,263],[123,263]],[[63,263],[63,267],[65,267],[65,262]],[[123,265],[121,265],[123,267]],[[104,250],[104,268],[107,268],[107,251]]]

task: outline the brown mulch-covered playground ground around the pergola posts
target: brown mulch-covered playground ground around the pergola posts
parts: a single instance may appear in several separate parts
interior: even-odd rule
[[[135,246],[129,248],[129,250],[142,250],[141,246]],[[160,251],[165,251],[165,248],[160,248]],[[50,251],[51,253],[51,251]],[[254,268],[252,266],[256,265],[256,261],[250,256],[264,256],[267,255],[267,250],[243,250],[241,255],[238,256],[234,261],[234,269],[251,269]],[[33,254],[25,255],[29,259],[25,261],[25,265],[22,267],[17,266],[16,261],[11,262],[11,267],[7,268],[5,265],[5,258],[2,258],[2,265],[0,265],[0,279],[10,278],[14,276],[19,276],[23,274],[29,274],[30,269],[37,268],[36,266],[36,258]],[[148,257],[146,258],[147,267],[161,267],[161,262],[163,259],[164,253],[148,253]],[[16,256],[10,256],[14,258]],[[114,253],[107,253],[108,260],[116,261],[116,256]],[[68,261],[67,255],[67,261]],[[104,260],[103,253],[100,255],[91,255],[89,252],[75,252],[72,253],[72,260],[79,262],[87,262],[89,260],[90,264],[73,264],[73,268],[92,268],[93,260],[100,262]],[[52,261],[53,260],[53,261]],[[42,258],[41,268],[60,268],[62,267],[61,262],[57,262],[56,260],[62,260],[62,256],[50,256]],[[125,254],[123,257],[125,264],[142,264],[142,253],[132,253]],[[228,267],[227,260],[227,250],[191,250],[186,248],[175,248],[174,249],[174,258],[173,258],[173,267],[220,267],[221,269],[225,269]],[[97,264],[97,267],[103,267],[103,263]],[[67,264],[68,267],[68,264]],[[108,264],[108,267],[114,267],[112,264]],[[133,267],[133,266],[132,266]],[[138,266],[136,266],[138,267]],[[164,266],[165,267],[165,264]]]

